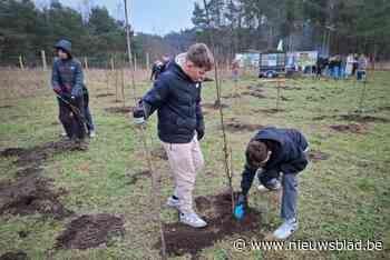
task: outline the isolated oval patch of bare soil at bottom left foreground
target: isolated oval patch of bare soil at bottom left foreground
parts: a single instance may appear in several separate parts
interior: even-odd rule
[[[70,221],[56,239],[56,248],[88,249],[107,244],[113,237],[124,236],[123,218],[99,213],[84,214]]]

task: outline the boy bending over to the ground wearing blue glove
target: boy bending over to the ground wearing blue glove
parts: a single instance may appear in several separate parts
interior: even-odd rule
[[[284,223],[273,232],[276,239],[286,239],[298,229],[296,176],[308,166],[308,150],[309,143],[301,132],[274,127],[260,130],[246,147],[237,207],[244,207],[244,210],[247,207],[247,194],[255,176],[262,184],[260,189],[283,187],[281,217]]]

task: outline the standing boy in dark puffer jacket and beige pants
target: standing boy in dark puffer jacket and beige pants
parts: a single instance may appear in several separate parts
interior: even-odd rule
[[[144,122],[157,111],[158,137],[175,179],[175,193],[167,204],[178,209],[181,222],[194,228],[206,226],[193,209],[193,190],[196,173],[204,164],[199,146],[205,131],[202,81],[213,64],[214,58],[204,43],[189,47],[186,53],[169,62],[134,112],[137,121]]]

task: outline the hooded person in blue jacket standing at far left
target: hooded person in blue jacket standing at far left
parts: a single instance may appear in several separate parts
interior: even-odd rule
[[[84,74],[81,63],[71,56],[71,42],[55,46],[58,58],[52,64],[51,88],[59,106],[59,120],[70,140],[81,143],[86,137]]]

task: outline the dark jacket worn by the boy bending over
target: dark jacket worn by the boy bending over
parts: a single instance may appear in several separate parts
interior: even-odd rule
[[[263,168],[264,179],[277,178],[280,172],[292,174],[303,171],[308,166],[305,150],[309,143],[305,137],[295,129],[264,128],[260,130],[253,140],[273,141],[276,143],[270,160]],[[247,194],[257,169],[252,169],[247,163],[242,174],[241,189]]]

